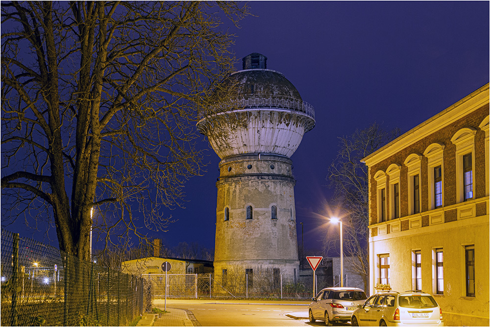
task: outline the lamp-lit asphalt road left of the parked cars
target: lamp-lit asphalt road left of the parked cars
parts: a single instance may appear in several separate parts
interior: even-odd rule
[[[263,304],[172,303],[169,307],[191,311],[201,326],[325,326],[296,320],[286,314],[307,306]]]

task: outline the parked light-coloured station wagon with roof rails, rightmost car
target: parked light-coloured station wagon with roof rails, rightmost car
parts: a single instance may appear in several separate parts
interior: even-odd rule
[[[351,318],[352,326],[444,326],[434,297],[421,291],[385,291],[369,297]]]

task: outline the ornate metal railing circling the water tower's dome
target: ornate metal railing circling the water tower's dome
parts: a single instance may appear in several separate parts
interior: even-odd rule
[[[281,96],[253,97],[221,102],[213,106],[214,112],[223,112],[228,110],[253,109],[253,108],[279,108],[292,111],[302,112],[315,120],[315,110],[313,106],[305,101]]]

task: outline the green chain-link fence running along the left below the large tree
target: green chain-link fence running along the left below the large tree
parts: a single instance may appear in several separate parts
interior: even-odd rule
[[[2,326],[128,326],[151,307],[149,287],[1,230]]]

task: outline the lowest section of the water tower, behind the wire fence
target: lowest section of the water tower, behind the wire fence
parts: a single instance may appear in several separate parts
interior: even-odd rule
[[[270,297],[281,285],[299,280],[298,260],[228,260],[214,262],[214,293],[235,297]]]

